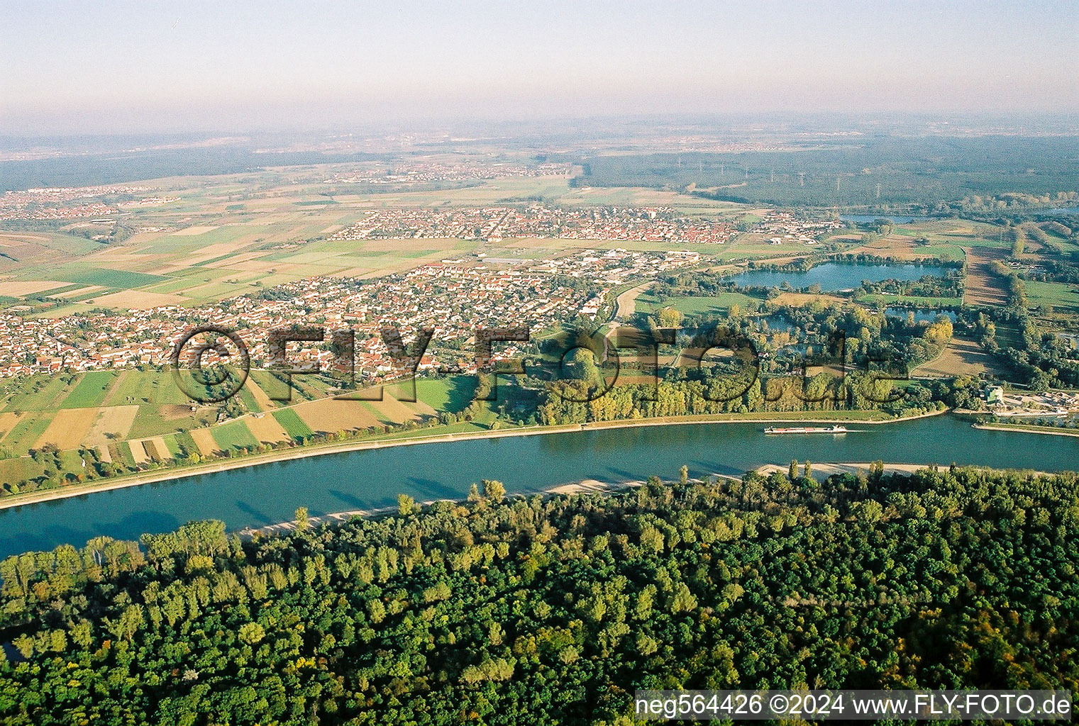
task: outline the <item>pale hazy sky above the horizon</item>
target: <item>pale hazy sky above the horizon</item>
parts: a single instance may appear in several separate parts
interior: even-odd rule
[[[1079,3],[0,3],[0,134],[1079,111]]]

